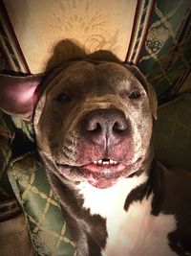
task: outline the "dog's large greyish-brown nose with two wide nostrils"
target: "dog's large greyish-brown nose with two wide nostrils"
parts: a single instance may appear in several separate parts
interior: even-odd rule
[[[119,109],[92,110],[85,116],[82,126],[83,135],[104,148],[119,143],[128,130],[128,121]]]

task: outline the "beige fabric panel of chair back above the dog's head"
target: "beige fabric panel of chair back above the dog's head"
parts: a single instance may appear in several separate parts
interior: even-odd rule
[[[72,39],[86,53],[110,50],[126,57],[137,1],[135,0],[5,0],[14,32],[32,73],[45,70],[53,49]],[[129,12],[131,10],[131,12]],[[53,65],[72,49],[57,51]]]

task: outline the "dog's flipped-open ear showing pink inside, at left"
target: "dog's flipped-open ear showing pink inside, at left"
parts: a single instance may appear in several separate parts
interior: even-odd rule
[[[0,74],[0,109],[12,116],[30,121],[38,101],[41,75],[16,77]]]

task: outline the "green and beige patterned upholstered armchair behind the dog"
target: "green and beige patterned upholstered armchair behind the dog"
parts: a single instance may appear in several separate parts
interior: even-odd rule
[[[0,27],[1,73],[46,74],[64,61],[97,51],[97,58],[111,52],[138,65],[159,100],[156,157],[167,166],[191,170],[190,1],[4,0]],[[3,112],[0,199],[0,226],[14,221],[18,235],[27,230],[34,255],[77,255],[35,151],[32,124]],[[15,221],[20,216],[26,229]],[[0,241],[2,236],[0,231]]]

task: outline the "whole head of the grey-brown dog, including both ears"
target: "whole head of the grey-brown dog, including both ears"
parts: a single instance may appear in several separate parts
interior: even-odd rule
[[[53,71],[39,99],[39,77],[1,78],[5,111],[29,119],[36,105],[36,141],[49,172],[107,188],[136,173],[147,157],[157,100],[137,67],[72,61]]]

